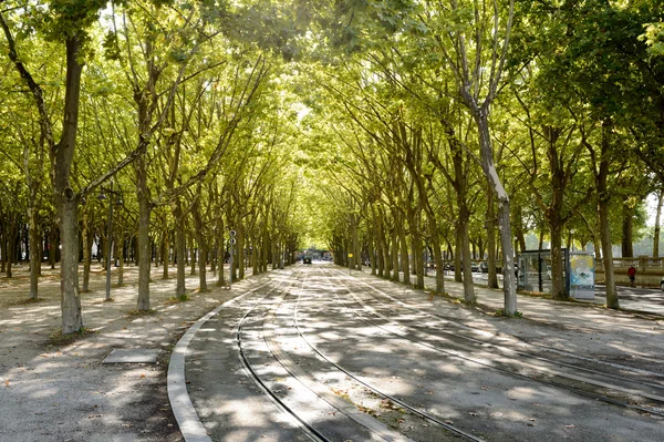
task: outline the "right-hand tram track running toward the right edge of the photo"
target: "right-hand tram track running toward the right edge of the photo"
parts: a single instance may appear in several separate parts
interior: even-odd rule
[[[339,270],[336,270],[338,273],[341,273]],[[344,274],[345,277],[345,274]],[[331,278],[331,277],[330,277]],[[335,278],[338,281],[340,280],[340,278]],[[356,279],[356,278],[355,278]],[[363,282],[363,281],[361,281]],[[366,282],[363,282],[364,285],[369,286],[370,288],[375,289],[374,287],[372,287],[371,285],[367,285]],[[551,367],[540,367],[530,362],[523,362],[523,361],[519,361],[519,363],[523,364],[528,364],[528,368],[533,370],[536,373],[544,373],[547,377],[550,378],[562,378],[566,380],[566,382],[560,382],[560,381],[553,381],[553,380],[547,380],[543,379],[543,376],[533,376],[531,373],[525,373],[525,372],[519,372],[517,369],[515,369],[513,366],[516,362],[513,360],[506,360],[506,358],[504,356],[497,356],[495,352],[491,353],[488,350],[494,350],[494,351],[500,351],[502,353],[507,353],[510,356],[518,356],[519,358],[537,358],[537,361],[540,363],[548,363],[550,366],[557,366],[560,364],[560,362],[558,361],[553,361],[553,360],[549,360],[547,358],[542,358],[542,357],[536,357],[536,356],[531,356],[531,354],[527,354],[525,352],[518,352],[513,349],[509,349],[509,348],[504,348],[504,347],[499,347],[495,343],[490,343],[490,342],[486,342],[486,341],[481,341],[478,340],[476,338],[468,338],[466,336],[461,336],[458,333],[454,333],[447,330],[436,330],[437,332],[440,332],[443,335],[446,335],[447,338],[449,336],[454,336],[456,338],[459,339],[464,339],[464,340],[470,340],[474,343],[474,347],[468,346],[468,345],[461,345],[459,342],[452,342],[450,339],[445,339],[445,337],[440,337],[439,335],[432,332],[430,328],[427,329],[427,327],[422,327],[418,325],[414,325],[414,320],[403,320],[403,319],[394,319],[391,317],[386,317],[385,315],[380,313],[378,311],[376,311],[376,309],[374,307],[369,306],[366,302],[363,302],[362,300],[357,299],[356,295],[352,294],[352,290],[349,287],[345,287],[344,290],[346,290],[349,292],[349,295],[353,298],[353,301],[355,304],[357,304],[357,306],[360,306],[360,308],[363,311],[367,311],[371,315],[373,315],[376,318],[380,318],[381,320],[385,321],[386,323],[390,322],[396,322],[400,325],[406,325],[409,329],[408,332],[405,332],[403,330],[398,330],[398,329],[394,329],[394,327],[387,327],[385,325],[381,325],[381,323],[376,323],[375,321],[372,321],[371,319],[367,319],[365,317],[362,317],[361,315],[356,313],[357,317],[360,317],[361,319],[367,321],[369,323],[372,323],[374,327],[380,327],[383,330],[400,336],[404,339],[408,339],[412,342],[415,342],[417,345],[427,347],[429,349],[433,349],[435,351],[439,351],[439,352],[445,352],[448,356],[453,356],[456,358],[460,358],[467,361],[471,361],[474,363],[479,363],[486,367],[490,367],[492,369],[497,369],[507,373],[511,373],[515,376],[519,376],[519,377],[523,377],[527,379],[531,379],[535,380],[537,382],[541,382],[541,383],[546,383],[548,386],[551,387],[556,387],[556,388],[563,388],[566,390],[569,391],[574,391],[579,394],[582,394],[584,397],[590,397],[592,399],[595,400],[602,400],[604,402],[608,403],[612,403],[614,405],[620,405],[620,407],[624,407],[624,408],[629,408],[632,410],[636,410],[643,413],[649,413],[649,414],[654,414],[654,415],[658,415],[658,417],[664,417],[664,410],[662,410],[660,407],[652,407],[652,405],[646,405],[646,404],[633,404],[633,403],[629,403],[625,400],[621,400],[621,399],[616,399],[620,398],[621,395],[624,394],[630,394],[630,395],[634,395],[634,397],[639,397],[642,399],[647,399],[651,401],[655,401],[658,404],[664,403],[664,397],[662,397],[661,394],[652,394],[649,393],[646,391],[640,390],[640,389],[634,389],[634,388],[626,388],[626,387],[620,387],[620,386],[615,386],[615,384],[610,384],[603,381],[598,381],[594,379],[589,378],[588,376],[575,376],[575,374],[570,374],[570,373],[566,373],[562,372],[560,369],[552,369]],[[385,294],[386,295],[386,294]],[[357,311],[357,308],[354,308],[351,304],[349,304],[347,300],[344,300],[342,298],[342,294],[339,292],[339,290],[336,290],[336,296],[339,297],[339,299],[344,302],[344,305],[346,305],[346,308],[349,308],[351,311]],[[388,295],[386,295],[388,296]],[[388,296],[390,297],[390,296]],[[374,298],[375,299],[375,298]],[[394,300],[396,300],[395,298],[393,298]],[[402,301],[400,301],[402,302]],[[388,307],[390,308],[390,307]],[[391,308],[392,309],[392,308]],[[412,308],[413,309],[413,308]],[[435,315],[428,313],[428,312],[422,312],[421,313],[426,313],[426,316],[428,317],[435,317]],[[448,319],[445,319],[446,322],[450,322]],[[460,325],[459,325],[460,326]],[[468,328],[467,326],[463,326],[464,328]],[[414,330],[415,329],[415,330]],[[424,331],[423,331],[424,329]],[[449,350],[449,349],[442,349],[440,346],[438,345],[432,345],[430,341],[432,337],[437,337],[438,339],[445,339],[445,343],[446,345],[453,345],[456,348],[460,348],[461,350]],[[478,349],[477,346],[481,346],[481,349]],[[478,351],[481,351],[481,356],[483,358],[478,358],[478,357],[474,357],[471,354],[477,354]],[[497,363],[496,359],[500,359]],[[573,367],[574,369],[581,369],[577,366],[571,366],[568,364],[568,368]],[[599,374],[599,376],[605,376],[605,377],[613,377],[612,379],[614,380],[619,380],[619,377],[610,374],[610,373],[605,373],[599,370],[585,370],[587,374],[589,372],[593,373],[593,374]],[[657,374],[657,373],[654,373]],[[581,387],[574,387],[573,384],[570,383],[580,383],[581,386],[585,387],[585,388],[581,388]],[[652,383],[652,382],[637,382],[637,381],[631,381],[633,384],[640,384],[642,387],[647,387],[647,388],[656,388],[656,389],[662,389],[662,386],[658,383]],[[592,391],[588,391],[587,386],[593,386],[595,389],[600,388],[600,389],[606,389],[606,390],[612,390],[612,391],[618,391],[618,394],[613,394],[611,395],[606,395],[606,394],[600,394],[596,392],[592,392]],[[645,401],[643,401],[645,402]]]

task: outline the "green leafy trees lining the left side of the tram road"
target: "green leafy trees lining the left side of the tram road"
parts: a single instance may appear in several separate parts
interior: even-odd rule
[[[37,298],[42,238],[56,232],[49,244],[60,255],[63,333],[83,327],[79,264],[86,290],[92,244],[105,238],[107,207],[118,198],[112,235],[121,266],[124,245],[133,245],[138,310],[151,308],[153,250],[162,250],[168,277],[173,247],[176,292],[185,294],[187,238],[204,290],[206,263],[224,258],[231,229],[238,278],[246,263],[258,273],[292,256],[302,222],[293,216],[297,113],[280,86],[288,81],[282,58],[261,48],[251,8],[158,0],[1,7],[0,255],[10,268],[18,228],[28,225]],[[101,192],[110,197],[103,204]]]

